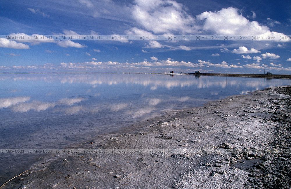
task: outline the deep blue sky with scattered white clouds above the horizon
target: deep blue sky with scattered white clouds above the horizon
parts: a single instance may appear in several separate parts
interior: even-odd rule
[[[0,2],[1,35],[290,36],[288,1]],[[291,40],[0,40],[0,72],[291,74]]]

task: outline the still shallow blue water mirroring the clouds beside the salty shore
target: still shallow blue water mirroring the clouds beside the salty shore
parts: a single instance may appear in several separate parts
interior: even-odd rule
[[[63,148],[167,110],[290,84],[284,79],[193,75],[1,74],[0,149]],[[1,154],[0,172],[6,176],[0,175],[0,181],[31,157],[37,156],[15,160]]]

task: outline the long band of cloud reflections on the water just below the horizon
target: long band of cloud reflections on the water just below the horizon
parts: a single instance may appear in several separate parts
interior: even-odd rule
[[[219,77],[219,76],[201,76],[199,80],[194,80],[192,75],[183,75],[168,77],[168,75],[149,75],[149,74],[41,74],[41,75],[9,75],[0,76],[0,80],[43,80],[45,82],[61,82],[63,84],[89,84],[93,88],[98,85],[107,84],[139,84],[149,86],[150,90],[156,90],[159,87],[172,89],[174,87],[196,86],[197,88],[210,88],[213,86],[226,88],[228,86],[247,86],[253,88],[261,88],[263,82],[258,78],[235,78],[235,77]],[[284,85],[286,81],[272,80],[274,85]]]

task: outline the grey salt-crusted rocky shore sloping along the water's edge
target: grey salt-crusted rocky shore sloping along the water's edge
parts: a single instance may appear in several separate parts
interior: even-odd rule
[[[205,151],[56,155],[3,188],[290,188],[290,153],[220,153],[290,149],[290,95],[288,86],[232,96],[72,146]]]

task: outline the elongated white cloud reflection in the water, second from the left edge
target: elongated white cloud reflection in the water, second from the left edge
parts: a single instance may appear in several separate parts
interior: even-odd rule
[[[55,105],[55,103],[43,103],[35,100],[31,103],[21,103],[19,105],[16,105],[12,107],[12,110],[14,112],[27,112],[29,110],[43,111],[48,109],[49,107],[54,107]]]

